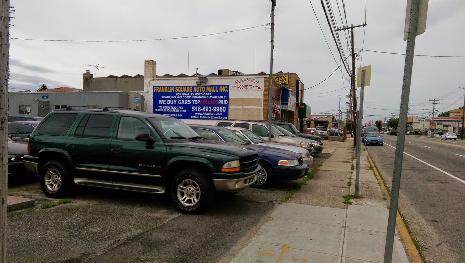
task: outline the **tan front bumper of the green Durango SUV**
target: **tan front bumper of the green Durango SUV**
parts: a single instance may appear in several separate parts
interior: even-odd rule
[[[251,186],[257,178],[259,178],[261,171],[261,166],[258,165],[257,169],[253,173],[248,173],[247,175],[236,178],[237,175],[233,175],[232,179],[222,179],[227,178],[228,176],[222,176],[222,178],[213,178],[213,184],[215,185],[216,191],[222,192],[239,192]],[[220,173],[214,173],[220,175]]]

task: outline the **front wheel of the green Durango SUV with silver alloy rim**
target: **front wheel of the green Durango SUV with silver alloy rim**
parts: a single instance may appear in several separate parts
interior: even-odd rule
[[[200,213],[208,208],[214,200],[215,191],[203,171],[186,169],[173,178],[171,200],[176,209],[183,213]]]

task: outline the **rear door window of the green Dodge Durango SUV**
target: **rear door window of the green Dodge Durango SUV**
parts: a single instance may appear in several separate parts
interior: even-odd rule
[[[113,115],[86,114],[81,119],[75,137],[108,139],[113,125]]]

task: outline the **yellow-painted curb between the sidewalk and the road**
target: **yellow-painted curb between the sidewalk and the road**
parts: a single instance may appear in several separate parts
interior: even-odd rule
[[[386,196],[386,203],[389,207],[389,203],[391,202],[391,196],[389,195],[383,180],[381,180],[381,176],[379,176],[378,169],[376,169],[376,166],[374,165],[372,158],[370,156],[367,157],[368,161],[373,167],[373,172],[376,178],[378,179],[379,184],[381,185],[381,189],[383,190],[383,193]],[[397,211],[396,216],[396,226],[399,230],[400,238],[405,244],[405,250],[407,251],[408,257],[412,260],[412,262],[423,262],[423,259],[421,258],[420,253],[417,250],[417,247],[415,247],[415,245],[413,244],[412,236],[410,236],[407,227],[402,221],[402,217],[400,216],[399,210]]]

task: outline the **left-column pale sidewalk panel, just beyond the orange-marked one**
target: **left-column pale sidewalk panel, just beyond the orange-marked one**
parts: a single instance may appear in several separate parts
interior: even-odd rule
[[[339,255],[342,231],[342,224],[340,227],[335,227],[273,218],[262,227],[254,242],[276,245],[289,244],[291,248],[337,256]]]

